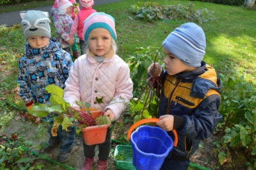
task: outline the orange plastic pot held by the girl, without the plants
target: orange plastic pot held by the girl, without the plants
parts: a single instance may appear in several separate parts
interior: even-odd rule
[[[87,109],[81,109],[81,111],[86,111]],[[92,118],[95,119],[100,116],[101,111],[90,108]],[[86,145],[96,145],[103,143],[106,140],[107,128],[110,124],[106,125],[95,125],[91,127],[82,128],[83,140]]]

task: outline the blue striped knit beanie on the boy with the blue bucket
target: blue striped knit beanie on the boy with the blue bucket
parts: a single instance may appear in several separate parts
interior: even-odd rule
[[[162,45],[186,65],[199,68],[205,55],[205,33],[198,25],[188,22],[171,32]]]

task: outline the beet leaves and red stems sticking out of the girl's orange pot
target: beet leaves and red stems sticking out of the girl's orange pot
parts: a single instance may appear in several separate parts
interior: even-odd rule
[[[80,127],[77,130],[77,134],[80,133],[82,128],[86,128],[92,125],[102,125],[108,124],[109,119],[103,115],[101,112],[97,119],[93,119],[91,112],[89,111],[88,104],[82,104],[82,102],[77,102],[82,106],[88,108],[87,112],[82,112],[80,110],[74,109],[71,105],[63,99],[64,90],[59,86],[50,84],[46,86],[45,90],[51,93],[50,103],[37,103],[28,110],[28,113],[35,117],[47,117],[48,113],[51,115],[51,119],[54,120],[54,125],[52,129],[53,136],[56,136],[57,128],[61,125],[62,130],[68,130],[68,127],[72,125],[77,125]]]

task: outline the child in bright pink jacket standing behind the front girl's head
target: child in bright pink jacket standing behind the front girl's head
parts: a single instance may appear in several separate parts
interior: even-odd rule
[[[77,33],[79,38],[80,52],[81,55],[85,54],[85,41],[83,40],[83,21],[90,16],[92,13],[97,12],[92,9],[94,5],[94,0],[80,0],[82,8],[78,11],[77,16],[75,17],[74,24],[72,25],[69,36],[72,38],[74,34]]]

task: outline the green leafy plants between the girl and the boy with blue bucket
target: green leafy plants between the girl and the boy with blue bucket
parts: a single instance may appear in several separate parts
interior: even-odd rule
[[[134,122],[141,119],[152,118],[158,111],[158,95],[155,90],[147,90],[147,68],[154,62],[155,57],[161,62],[161,54],[156,47],[148,46],[147,48],[137,48],[135,56],[129,58],[130,71],[132,72],[133,95],[135,98],[130,101],[130,110],[134,113]],[[158,54],[158,56],[156,56]],[[143,90],[146,89],[146,90]],[[138,101],[138,96],[141,98]],[[147,99],[147,96],[150,96]],[[146,105],[145,105],[146,104]],[[145,105],[145,109],[144,109]],[[142,113],[143,110],[143,113]]]

